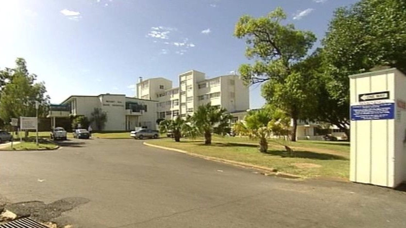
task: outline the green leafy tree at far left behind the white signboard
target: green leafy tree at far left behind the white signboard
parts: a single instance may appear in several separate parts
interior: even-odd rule
[[[11,118],[35,116],[35,101],[39,102],[38,116],[46,116],[50,97],[44,82],[35,82],[24,59],[16,60],[16,67],[0,70],[0,118],[8,123]]]

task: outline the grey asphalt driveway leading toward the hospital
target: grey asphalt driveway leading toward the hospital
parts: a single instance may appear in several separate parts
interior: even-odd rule
[[[406,227],[404,192],[266,177],[131,139],[0,151],[0,163],[0,200],[17,203],[6,208],[78,228]]]

